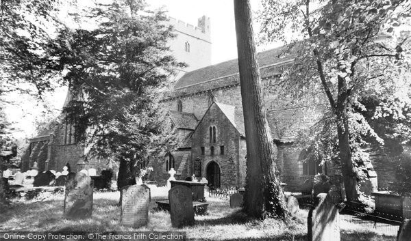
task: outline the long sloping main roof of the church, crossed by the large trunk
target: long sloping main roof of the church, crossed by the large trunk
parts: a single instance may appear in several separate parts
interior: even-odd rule
[[[281,46],[258,53],[257,58],[260,68],[264,66],[270,66],[274,63],[279,63],[280,61],[292,59],[292,55],[284,55],[285,49],[285,46]],[[264,71],[261,71],[262,76],[264,76]],[[178,89],[189,85],[195,85],[232,74],[238,74],[238,59],[232,59],[222,63],[217,63],[212,66],[207,66],[198,70],[187,72],[177,81],[174,88]]]

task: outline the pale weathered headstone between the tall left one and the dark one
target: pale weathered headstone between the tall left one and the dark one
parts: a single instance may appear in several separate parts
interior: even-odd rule
[[[146,225],[149,221],[150,188],[145,185],[125,186],[121,193],[121,225]]]

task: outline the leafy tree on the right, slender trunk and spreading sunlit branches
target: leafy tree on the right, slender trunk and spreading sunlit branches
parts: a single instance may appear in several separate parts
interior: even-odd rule
[[[400,28],[409,12],[406,0],[263,1],[258,18],[261,42],[285,41],[289,33],[302,33],[288,41],[295,62],[279,85],[301,94],[308,87],[323,93],[329,111],[315,126],[319,135],[311,140],[321,147],[319,152],[338,155],[347,199],[359,197],[356,167],[366,156],[362,137],[382,143],[362,115],[364,101],[372,96],[379,100],[378,117],[387,114],[389,108],[384,107],[395,107],[390,103],[401,99],[395,98],[395,80],[410,68],[410,32]],[[409,104],[404,101],[410,93],[405,96],[401,101]]]

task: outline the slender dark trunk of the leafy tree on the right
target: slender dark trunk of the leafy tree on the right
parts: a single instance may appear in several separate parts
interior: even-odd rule
[[[349,145],[349,124],[347,115],[348,101],[347,80],[338,76],[338,97],[336,103],[336,124],[338,134],[338,157],[341,162],[341,171],[345,186],[347,201],[358,201],[358,182],[356,169],[354,169],[351,147]]]

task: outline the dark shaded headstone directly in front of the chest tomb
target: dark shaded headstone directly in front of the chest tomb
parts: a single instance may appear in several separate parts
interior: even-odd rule
[[[174,186],[169,190],[171,225],[183,227],[194,225],[191,190],[186,186]]]

